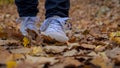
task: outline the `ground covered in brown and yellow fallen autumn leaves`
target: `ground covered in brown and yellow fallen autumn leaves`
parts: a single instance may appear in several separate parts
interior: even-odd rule
[[[70,1],[69,44],[31,44],[15,5],[0,6],[0,68],[120,68],[120,0]],[[42,23],[44,0],[38,8]]]

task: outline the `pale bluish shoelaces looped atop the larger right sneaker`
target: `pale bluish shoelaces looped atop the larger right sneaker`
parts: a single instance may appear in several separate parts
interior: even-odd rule
[[[65,26],[64,25],[66,24],[66,20],[68,20],[68,19],[70,19],[70,18],[68,18],[68,17],[65,17],[65,18],[60,18],[60,17],[48,18],[43,22],[40,30],[41,30],[41,32],[44,32],[47,29],[47,27],[49,26],[49,24],[51,24],[51,21],[55,20],[61,25],[62,29],[65,31]]]

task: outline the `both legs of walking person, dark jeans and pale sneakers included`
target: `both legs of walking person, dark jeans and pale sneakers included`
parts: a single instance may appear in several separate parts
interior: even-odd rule
[[[38,0],[15,0],[18,13],[21,20],[20,31],[23,35],[27,35],[27,29],[37,32],[35,26],[36,15],[39,12],[37,9]],[[70,8],[69,0],[46,0],[46,20],[40,27],[40,30],[45,36],[49,36],[60,42],[65,42],[68,37],[64,31],[64,25],[68,19]]]

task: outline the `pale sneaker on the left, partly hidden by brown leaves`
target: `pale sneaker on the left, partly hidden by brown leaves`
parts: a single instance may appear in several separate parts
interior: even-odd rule
[[[22,35],[27,36],[27,30],[32,30],[38,33],[37,27],[35,26],[37,20],[37,17],[21,17],[19,20],[17,20],[20,21],[20,31]]]

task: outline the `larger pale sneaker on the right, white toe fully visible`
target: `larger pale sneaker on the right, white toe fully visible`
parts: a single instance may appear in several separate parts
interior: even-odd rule
[[[40,27],[43,35],[48,36],[58,42],[68,41],[65,33],[65,23],[69,18],[50,17],[46,19]]]

